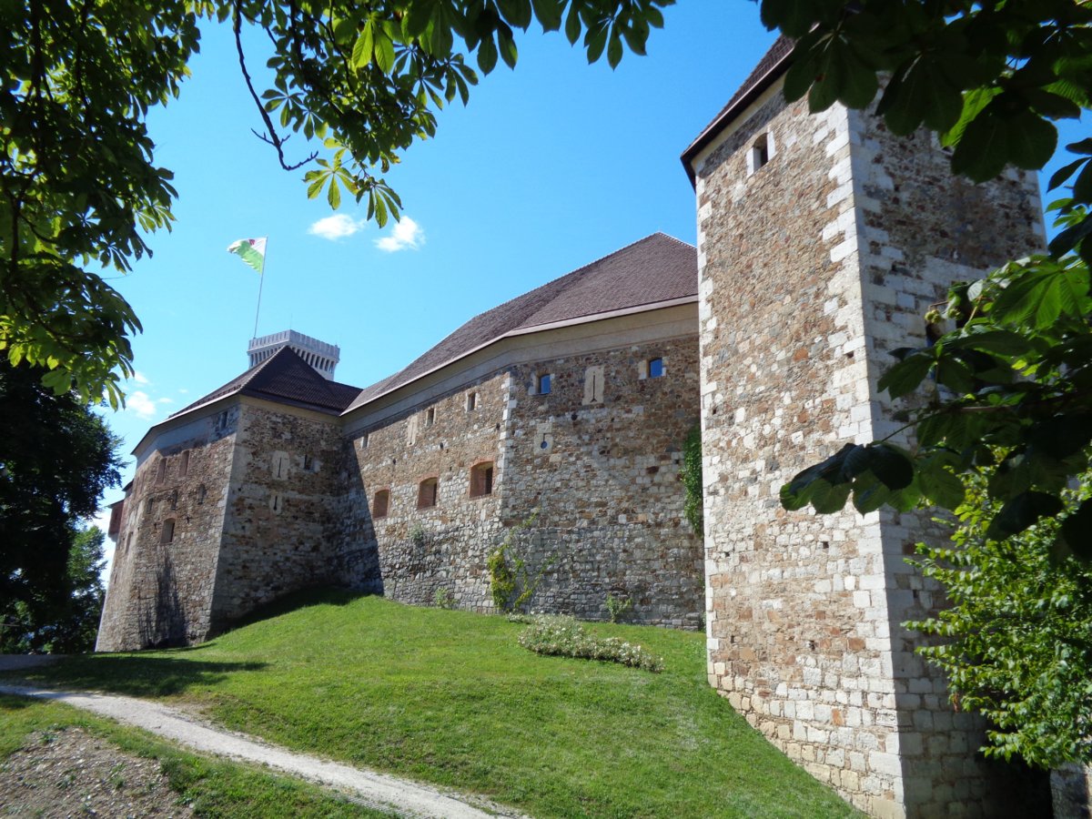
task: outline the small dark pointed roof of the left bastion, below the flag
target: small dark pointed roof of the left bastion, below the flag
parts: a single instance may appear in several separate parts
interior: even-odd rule
[[[179,410],[170,417],[174,418],[216,399],[234,394],[252,395],[253,397],[336,415],[347,407],[359,393],[359,387],[328,381],[300,358],[292,347],[283,347],[275,355],[251,367],[219,389],[198,399],[189,406]]]

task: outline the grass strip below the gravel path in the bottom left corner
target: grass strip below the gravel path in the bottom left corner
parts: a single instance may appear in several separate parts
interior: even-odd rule
[[[339,798],[317,785],[186,753],[128,728],[57,702],[0,695],[0,760],[24,747],[34,732],[80,727],[122,751],[159,761],[179,805],[200,817],[390,817]]]

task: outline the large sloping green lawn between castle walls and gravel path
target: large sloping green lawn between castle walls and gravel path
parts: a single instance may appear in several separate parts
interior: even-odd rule
[[[662,655],[650,674],[534,654],[523,628],[312,594],[202,645],[29,676],[197,702],[233,729],[541,817],[857,816],[709,687],[701,634],[589,626]]]

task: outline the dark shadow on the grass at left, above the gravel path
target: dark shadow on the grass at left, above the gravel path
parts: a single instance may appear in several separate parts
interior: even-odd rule
[[[200,648],[200,646],[193,646]],[[186,649],[174,650],[181,654]],[[213,686],[230,674],[261,672],[268,663],[222,663],[182,656],[86,654],[56,665],[27,668],[19,676],[37,686],[108,691],[133,697],[168,697]]]

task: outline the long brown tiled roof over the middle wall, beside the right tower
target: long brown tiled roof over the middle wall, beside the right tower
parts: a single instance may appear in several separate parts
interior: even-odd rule
[[[346,412],[515,331],[697,294],[693,247],[653,234],[474,317],[402,371],[364,390]]]

